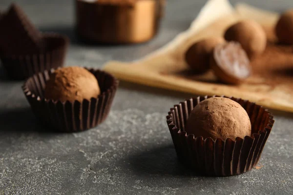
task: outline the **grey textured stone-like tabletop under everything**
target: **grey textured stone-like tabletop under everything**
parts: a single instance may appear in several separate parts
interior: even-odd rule
[[[0,0],[4,9],[11,0]],[[204,0],[168,0],[160,34],[140,45],[88,46],[74,35],[72,0],[17,0],[42,31],[71,39],[66,65],[101,67],[145,56],[186,30]],[[282,11],[292,0],[246,0]],[[235,3],[234,0],[232,3]],[[246,174],[203,177],[177,161],[166,125],[169,108],[190,97],[121,83],[107,120],[73,134],[43,131],[0,66],[0,194],[293,194],[293,115],[275,114],[259,165]]]

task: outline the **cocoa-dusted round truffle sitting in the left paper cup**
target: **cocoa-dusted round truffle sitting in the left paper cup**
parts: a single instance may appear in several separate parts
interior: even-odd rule
[[[71,101],[97,98],[100,87],[97,79],[82,67],[64,67],[55,70],[46,83],[46,99]]]

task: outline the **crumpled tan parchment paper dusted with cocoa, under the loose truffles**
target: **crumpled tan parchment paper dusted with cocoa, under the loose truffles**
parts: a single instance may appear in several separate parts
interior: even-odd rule
[[[253,75],[235,86],[219,83],[212,71],[193,75],[184,61],[184,53],[196,40],[223,36],[232,23],[252,19],[264,26],[269,43],[265,53],[252,61]],[[104,70],[117,78],[144,85],[193,93],[226,95],[249,99],[267,108],[293,112],[293,47],[276,46],[273,27],[278,14],[228,0],[209,0],[190,28],[163,48],[134,62],[110,61]],[[175,92],[174,92],[175,93]],[[187,97],[188,98],[188,97]]]

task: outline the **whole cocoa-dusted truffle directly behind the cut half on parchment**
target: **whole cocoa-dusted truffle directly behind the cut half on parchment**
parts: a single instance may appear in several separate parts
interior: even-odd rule
[[[231,25],[225,32],[226,40],[239,42],[250,58],[263,53],[267,36],[255,21],[244,20]]]

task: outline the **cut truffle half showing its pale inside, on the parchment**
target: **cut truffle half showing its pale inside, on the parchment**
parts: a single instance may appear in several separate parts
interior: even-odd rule
[[[233,41],[215,46],[210,66],[214,74],[228,84],[239,84],[251,74],[249,58],[241,45]]]

